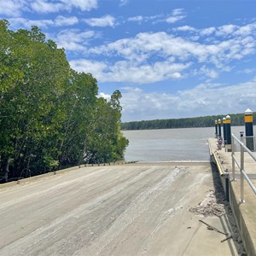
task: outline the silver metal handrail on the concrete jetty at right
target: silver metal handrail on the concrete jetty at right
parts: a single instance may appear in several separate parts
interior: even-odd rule
[[[237,160],[236,154],[235,154],[235,147],[236,147],[235,142],[240,145],[240,149],[241,149],[240,150],[241,151],[240,163]],[[249,184],[251,189],[253,189],[253,192],[256,195],[256,188],[255,188],[255,186],[253,185],[251,179],[247,176],[247,173],[244,170],[244,153],[247,152],[247,154],[249,154],[253,158],[253,160],[255,162],[256,162],[256,156],[234,134],[232,134],[232,136],[231,136],[231,143],[232,143],[232,176],[233,176],[232,178],[233,178],[233,180],[236,179],[235,167],[238,166],[238,168],[240,170],[240,178],[241,178],[241,197],[240,197],[240,201],[244,202],[244,179],[246,179],[247,183]],[[236,166],[235,166],[235,164],[236,164]]]

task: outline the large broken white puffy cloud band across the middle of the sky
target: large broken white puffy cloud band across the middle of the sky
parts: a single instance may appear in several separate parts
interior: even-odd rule
[[[73,65],[79,67],[79,71],[92,73],[101,82],[142,84],[182,79],[189,74],[188,67],[193,66],[197,70],[194,74],[217,79],[219,73],[231,71],[232,61],[252,55],[255,49],[256,43],[251,36],[204,44],[166,32],[143,32],[135,38],[123,38],[86,50],[88,55],[106,56],[105,62],[90,61],[87,57],[86,65],[80,65],[81,59],[73,61]]]

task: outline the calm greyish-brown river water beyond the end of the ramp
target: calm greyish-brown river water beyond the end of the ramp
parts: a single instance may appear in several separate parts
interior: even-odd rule
[[[244,130],[244,126],[231,127],[236,137]],[[123,134],[130,142],[125,151],[126,161],[208,161],[207,138],[215,136],[215,127],[123,131]]]

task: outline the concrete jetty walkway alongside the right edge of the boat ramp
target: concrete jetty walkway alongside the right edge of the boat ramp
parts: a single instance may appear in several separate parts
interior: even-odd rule
[[[256,255],[256,154],[244,149],[245,140],[239,143],[232,137],[232,147],[208,139],[211,161],[218,168],[247,255]]]

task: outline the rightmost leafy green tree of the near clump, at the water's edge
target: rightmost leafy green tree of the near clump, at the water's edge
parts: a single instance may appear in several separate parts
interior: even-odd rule
[[[98,99],[90,125],[91,135],[84,145],[86,162],[110,162],[124,157],[128,140],[120,131],[120,97],[119,90],[115,90],[110,102],[103,98]]]

